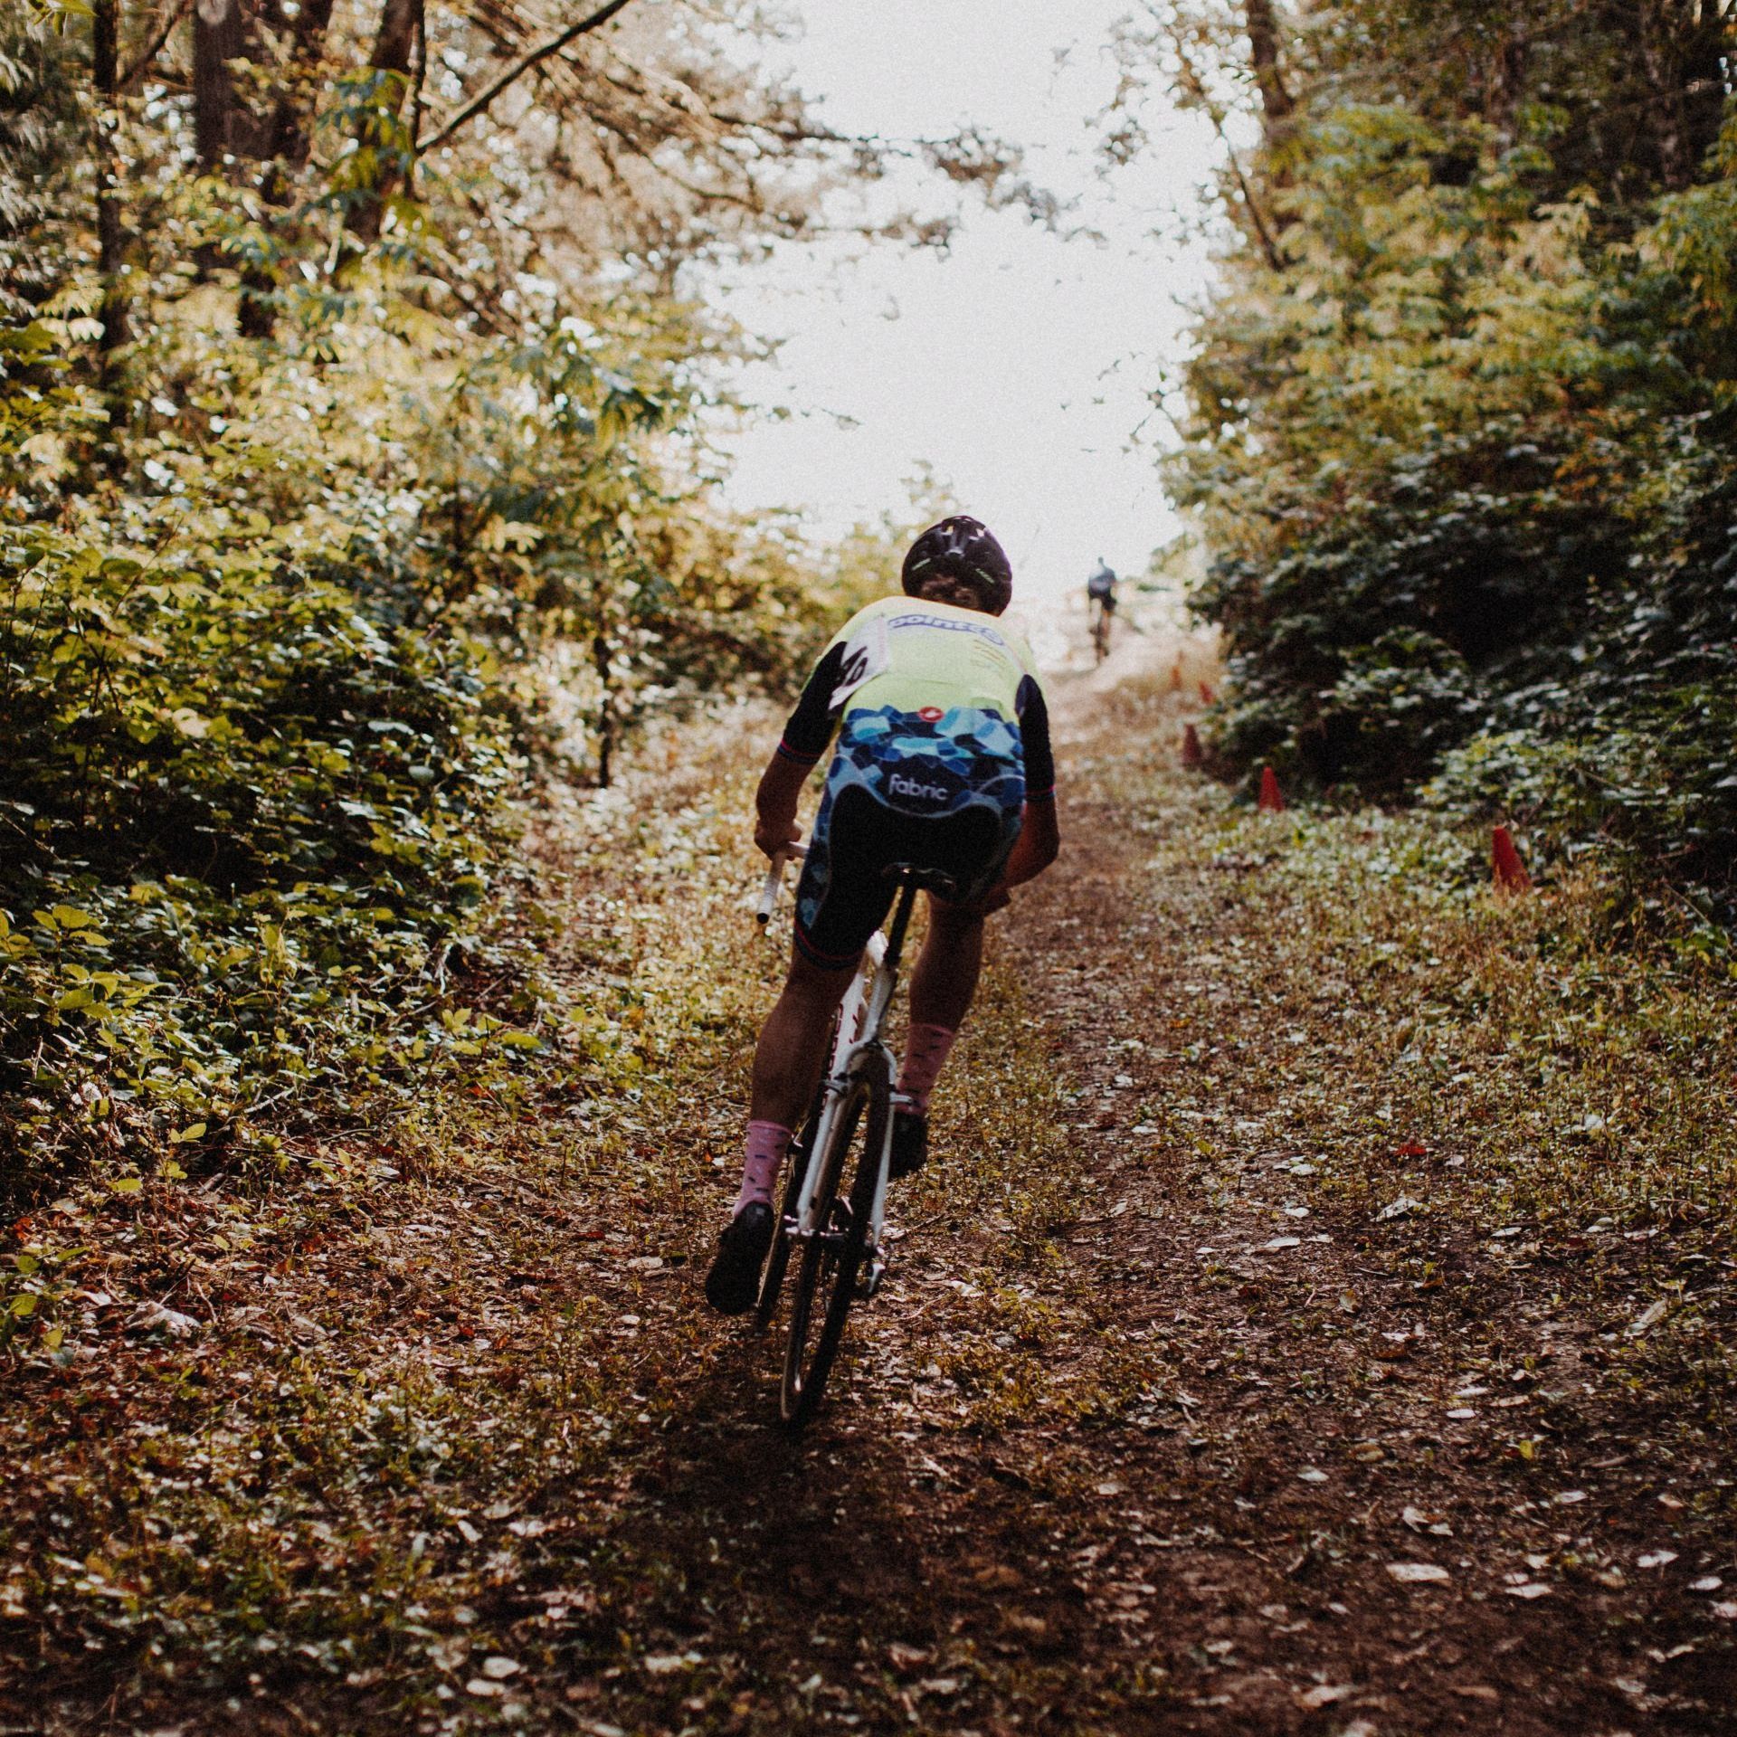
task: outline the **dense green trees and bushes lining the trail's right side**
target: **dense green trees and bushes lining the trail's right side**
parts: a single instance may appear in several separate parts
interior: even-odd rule
[[[1732,7],[1153,0],[1122,54],[1120,153],[1152,90],[1226,141],[1172,471],[1226,764],[1728,917]]]

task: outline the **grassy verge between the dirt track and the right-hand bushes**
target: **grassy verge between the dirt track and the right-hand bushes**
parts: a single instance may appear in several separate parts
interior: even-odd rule
[[[1487,834],[1442,816],[1259,815],[1138,754],[1096,775],[1167,888],[1159,1143],[1397,1244],[1421,1292],[1494,1270],[1577,1299],[1723,1430],[1737,978],[1699,915],[1636,931],[1614,875],[1548,858],[1497,893]]]

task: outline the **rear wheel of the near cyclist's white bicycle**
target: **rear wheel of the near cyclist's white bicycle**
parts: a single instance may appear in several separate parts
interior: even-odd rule
[[[881,1186],[891,1100],[893,1072],[886,1051],[863,1051],[851,1063],[844,1101],[832,1119],[827,1143],[809,1159],[816,1167],[816,1230],[802,1242],[780,1402],[783,1421],[792,1430],[801,1430],[815,1416],[844,1336],[844,1317],[856,1292],[856,1271]]]

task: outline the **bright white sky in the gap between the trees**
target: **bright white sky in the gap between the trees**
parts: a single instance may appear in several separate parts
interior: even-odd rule
[[[1110,35],[1127,0],[801,0],[794,82],[830,125],[884,139],[962,125],[1025,148],[1065,201],[1049,234],[1018,210],[964,207],[950,252],[785,247],[724,306],[785,339],[742,387],[789,406],[726,436],[742,505],[804,509],[816,535],[903,512],[921,466],[952,485],[1014,561],[1027,598],[1077,587],[1096,556],[1139,571],[1178,530],[1159,483],[1169,439],[1150,393],[1183,354],[1183,302],[1209,274],[1197,233],[1218,151],[1204,116],[1145,115],[1150,142],[1110,181],[1093,118],[1115,92]],[[776,64],[775,57],[775,64]],[[912,179],[919,208],[945,200]],[[1139,443],[1134,431],[1143,427]]]

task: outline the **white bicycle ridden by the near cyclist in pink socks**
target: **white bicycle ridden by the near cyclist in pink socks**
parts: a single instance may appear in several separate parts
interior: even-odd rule
[[[796,844],[775,856],[766,870],[756,912],[761,926],[776,908],[787,858],[801,855],[802,846]],[[820,1405],[851,1303],[858,1296],[874,1298],[886,1277],[881,1244],[898,1063],[881,1027],[898,985],[898,959],[917,893],[961,895],[947,875],[912,863],[895,863],[888,875],[898,889],[893,921],[868,938],[839,1006],[830,1063],[815,1087],[802,1131],[790,1143],[783,1204],[754,1310],[756,1324],[768,1327],[790,1258],[801,1251],[778,1391],[780,1414],[792,1431],[801,1430]]]

